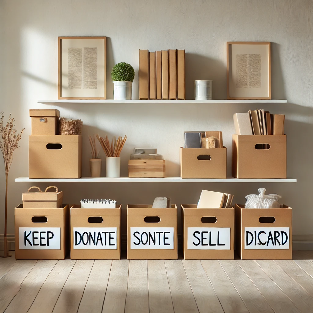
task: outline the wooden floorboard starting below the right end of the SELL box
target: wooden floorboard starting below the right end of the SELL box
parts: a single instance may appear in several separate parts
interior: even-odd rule
[[[219,261],[250,313],[274,312],[237,262]]]

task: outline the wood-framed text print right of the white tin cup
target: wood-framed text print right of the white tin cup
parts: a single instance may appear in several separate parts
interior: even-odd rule
[[[271,99],[270,42],[227,43],[227,99]]]

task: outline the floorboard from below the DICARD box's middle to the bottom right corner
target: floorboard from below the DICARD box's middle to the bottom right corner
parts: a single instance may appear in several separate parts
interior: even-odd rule
[[[313,312],[313,298],[274,261],[255,261],[302,313]]]

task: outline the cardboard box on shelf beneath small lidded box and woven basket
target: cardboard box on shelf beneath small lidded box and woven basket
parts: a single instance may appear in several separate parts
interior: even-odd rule
[[[29,178],[80,178],[82,137],[29,136]]]

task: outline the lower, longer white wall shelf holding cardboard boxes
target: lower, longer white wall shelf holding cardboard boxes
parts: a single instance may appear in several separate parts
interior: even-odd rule
[[[294,178],[129,178],[129,177],[81,177],[81,178],[28,178],[18,177],[15,182],[297,182]]]

